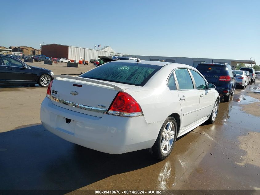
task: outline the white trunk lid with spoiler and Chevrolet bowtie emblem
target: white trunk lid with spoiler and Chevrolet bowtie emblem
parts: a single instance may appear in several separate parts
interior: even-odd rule
[[[118,91],[138,87],[73,76],[55,76],[51,87],[53,104],[75,112],[102,117]]]

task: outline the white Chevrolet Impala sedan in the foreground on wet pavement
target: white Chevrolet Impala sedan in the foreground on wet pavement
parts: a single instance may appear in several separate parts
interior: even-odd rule
[[[146,148],[169,156],[177,137],[216,120],[220,97],[194,67],[119,60],[78,77],[54,76],[41,105],[43,126],[111,154]]]

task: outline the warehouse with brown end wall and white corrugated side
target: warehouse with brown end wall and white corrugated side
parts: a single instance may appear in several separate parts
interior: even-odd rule
[[[68,45],[47,44],[42,45],[42,55],[46,55],[51,58],[67,58],[73,60],[85,59],[89,61],[90,59],[98,59],[99,55],[122,56],[123,54],[114,52],[114,50],[109,46],[105,46],[100,50],[94,50]]]

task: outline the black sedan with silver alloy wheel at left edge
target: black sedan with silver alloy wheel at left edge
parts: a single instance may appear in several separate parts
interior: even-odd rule
[[[26,63],[7,55],[0,55],[0,85],[32,85],[47,87],[53,72]]]

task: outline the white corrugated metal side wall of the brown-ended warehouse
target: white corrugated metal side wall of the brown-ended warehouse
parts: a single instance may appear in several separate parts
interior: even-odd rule
[[[99,55],[122,56],[124,54],[69,46],[69,59],[73,59],[73,60],[85,59],[89,61],[90,59],[98,59]]]

